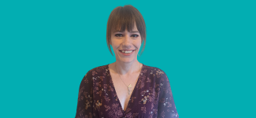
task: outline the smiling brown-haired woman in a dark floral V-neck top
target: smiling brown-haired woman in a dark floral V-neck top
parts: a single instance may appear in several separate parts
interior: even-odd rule
[[[76,118],[178,118],[165,72],[137,60],[142,42],[143,50],[146,44],[146,25],[138,9],[113,9],[106,39],[116,62],[93,68],[83,77]]]

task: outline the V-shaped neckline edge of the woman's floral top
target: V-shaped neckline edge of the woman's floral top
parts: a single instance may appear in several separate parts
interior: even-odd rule
[[[122,112],[123,112],[123,113],[127,111],[128,107],[129,107],[129,106],[130,106],[130,104],[131,104],[131,103],[130,103],[130,102],[131,102],[131,98],[132,98],[132,96],[133,96],[133,94],[134,94],[135,88],[138,86],[139,79],[140,79],[140,75],[141,75],[141,74],[142,74],[142,72],[143,72],[143,67],[144,67],[144,65],[142,65],[142,68],[140,69],[140,72],[139,72],[139,78],[138,78],[138,80],[137,80],[137,82],[136,82],[136,84],[135,84],[134,89],[132,90],[132,94],[131,94],[131,96],[130,96],[130,98],[129,98],[129,101],[128,101],[128,104],[127,104],[127,107],[126,107],[125,111],[124,111],[124,109],[122,109]],[[116,88],[115,88],[115,86],[113,85],[113,79],[112,79],[112,76],[111,76],[110,71],[109,71],[109,65],[107,65],[107,70],[108,70],[108,73],[109,73],[110,81],[112,81],[113,92],[114,92],[114,94],[117,94]],[[120,106],[121,106],[121,108],[122,108],[121,101],[119,100],[118,96],[117,96],[117,99],[118,99],[118,103],[119,103],[119,105],[120,105]]]

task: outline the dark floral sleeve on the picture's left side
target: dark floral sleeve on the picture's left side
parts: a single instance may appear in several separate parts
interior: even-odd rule
[[[80,83],[75,118],[91,118],[93,116],[92,97],[92,76],[89,71],[83,76]]]

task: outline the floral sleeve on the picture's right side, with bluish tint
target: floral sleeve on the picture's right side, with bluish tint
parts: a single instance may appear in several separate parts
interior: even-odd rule
[[[161,75],[160,94],[158,99],[158,118],[179,118],[173,100],[169,79],[165,72]]]

